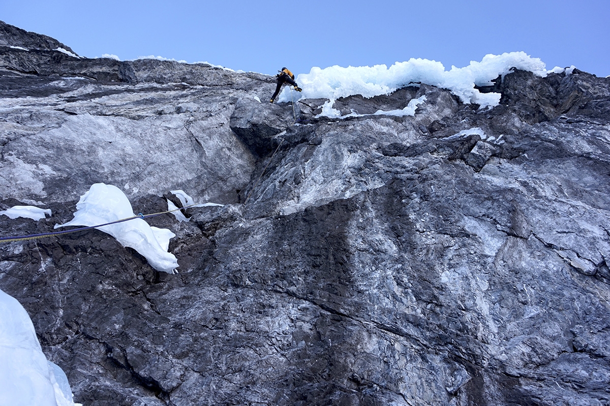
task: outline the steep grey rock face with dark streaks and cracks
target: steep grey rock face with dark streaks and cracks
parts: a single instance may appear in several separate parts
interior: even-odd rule
[[[610,79],[515,71],[490,110],[422,84],[335,105],[425,95],[414,117],[329,120],[257,101],[272,77],[0,28],[0,209],[53,213],[2,235],[51,231],[95,182],[135,212],[225,204],[149,220],[178,275],[98,230],[0,244],[76,402],[609,404]]]

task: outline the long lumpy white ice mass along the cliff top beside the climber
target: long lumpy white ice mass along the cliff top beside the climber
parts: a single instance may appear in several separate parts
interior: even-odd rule
[[[504,77],[511,73],[511,68],[531,71],[537,76],[545,77],[550,72],[563,71],[562,68],[546,70],[542,60],[533,58],[525,52],[508,52],[501,55],[485,55],[481,62],[472,61],[464,68],[451,66],[446,71],[442,63],[428,59],[410,59],[397,62],[387,68],[386,65],[375,66],[329,66],[328,68],[311,68],[307,74],[300,74],[296,82],[303,91],[296,96],[290,95],[290,88],[285,87],[279,96],[279,102],[291,99],[330,99],[362,94],[365,98],[390,94],[411,83],[424,83],[451,90],[465,103],[475,103],[481,107],[493,107],[500,102],[499,93],[481,93],[477,86],[493,85],[492,80],[498,75]]]

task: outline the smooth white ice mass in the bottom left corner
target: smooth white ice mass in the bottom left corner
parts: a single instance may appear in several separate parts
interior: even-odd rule
[[[23,306],[2,290],[0,382],[2,405],[74,406],[66,374],[46,359]]]

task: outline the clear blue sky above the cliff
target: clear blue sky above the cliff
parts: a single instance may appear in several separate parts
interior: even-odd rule
[[[2,0],[0,20],[86,57],[145,55],[295,74],[524,51],[610,75],[610,0]]]

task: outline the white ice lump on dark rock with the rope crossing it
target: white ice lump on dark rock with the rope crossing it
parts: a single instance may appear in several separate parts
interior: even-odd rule
[[[135,216],[123,191],[105,183],[91,185],[81,196],[76,208],[72,221],[55,227],[96,226]],[[176,257],[167,252],[170,239],[176,237],[168,229],[151,227],[141,218],[96,228],[112,235],[124,247],[135,249],[157,271],[173,274],[174,269],[178,268]]]

